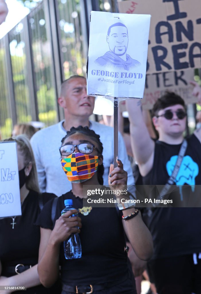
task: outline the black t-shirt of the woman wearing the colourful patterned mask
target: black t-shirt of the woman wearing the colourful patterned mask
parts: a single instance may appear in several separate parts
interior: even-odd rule
[[[53,230],[55,221],[65,208],[64,200],[72,199],[73,207],[83,207],[83,200],[68,192],[58,198],[54,222],[51,220],[52,203],[49,201],[40,213],[37,225]],[[122,279],[128,271],[124,251],[125,239],[121,213],[116,208],[92,208],[82,219],[80,241],[82,257],[66,260],[63,242],[60,246],[61,279],[66,285],[100,284]]]

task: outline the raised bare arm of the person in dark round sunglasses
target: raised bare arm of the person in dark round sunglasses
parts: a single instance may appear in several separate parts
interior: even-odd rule
[[[143,120],[140,99],[128,99],[131,147],[142,176],[146,176],[153,166],[154,142],[150,138]]]

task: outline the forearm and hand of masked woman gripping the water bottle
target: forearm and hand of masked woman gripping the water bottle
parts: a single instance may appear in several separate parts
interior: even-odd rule
[[[40,229],[38,274],[41,283],[47,288],[51,287],[58,279],[61,242],[65,241],[72,233],[80,233],[81,219],[77,216],[70,218],[75,213],[77,213],[76,210],[71,210],[60,216],[56,220],[53,230]]]

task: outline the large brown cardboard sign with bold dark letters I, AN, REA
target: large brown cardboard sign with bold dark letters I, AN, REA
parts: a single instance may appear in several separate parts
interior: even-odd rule
[[[200,0],[128,0],[118,7],[151,14],[147,73],[201,67]]]

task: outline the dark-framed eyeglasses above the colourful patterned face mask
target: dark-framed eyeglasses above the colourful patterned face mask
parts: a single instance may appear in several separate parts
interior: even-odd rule
[[[59,148],[60,154],[63,155],[63,156],[70,155],[75,151],[75,147],[77,147],[78,151],[80,153],[83,153],[83,154],[92,153],[93,148],[95,148],[99,152],[98,148],[94,144],[92,144],[92,143],[81,143],[81,144],[78,144],[78,145],[67,144],[67,145],[61,146]]]

